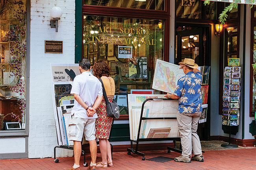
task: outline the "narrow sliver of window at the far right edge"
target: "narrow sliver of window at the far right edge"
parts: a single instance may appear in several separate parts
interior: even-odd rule
[[[256,26],[253,27],[252,64],[256,63]],[[252,112],[256,112],[256,68],[252,69]]]

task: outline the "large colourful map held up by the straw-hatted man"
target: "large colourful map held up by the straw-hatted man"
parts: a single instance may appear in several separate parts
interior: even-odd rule
[[[178,65],[157,59],[152,89],[173,93],[178,79],[185,76],[179,68]]]

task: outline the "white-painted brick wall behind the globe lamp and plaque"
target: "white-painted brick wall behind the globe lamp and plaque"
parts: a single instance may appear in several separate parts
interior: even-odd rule
[[[50,10],[54,6],[63,11],[58,33],[49,25]],[[74,63],[74,13],[74,0],[31,0],[29,158],[53,157],[57,145],[50,63]],[[45,40],[63,41],[63,54],[46,54]],[[57,156],[68,155],[72,155],[72,151],[57,149]]]

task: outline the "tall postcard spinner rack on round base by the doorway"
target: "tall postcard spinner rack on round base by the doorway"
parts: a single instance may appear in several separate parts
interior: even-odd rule
[[[241,67],[225,67],[223,85],[223,115],[222,124],[229,126],[229,143],[222,144],[225,148],[237,148],[237,145],[230,144],[231,126],[239,125],[240,108],[240,78]]]

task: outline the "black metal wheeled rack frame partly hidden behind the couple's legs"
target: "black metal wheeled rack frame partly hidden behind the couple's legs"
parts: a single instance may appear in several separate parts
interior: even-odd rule
[[[111,129],[110,129],[109,139],[108,139],[108,140],[110,140],[110,136],[111,136],[111,131],[112,131],[114,119],[115,119],[115,118],[113,118],[113,121],[112,121],[112,125],[111,125]],[[57,142],[58,142],[58,140],[57,140]],[[82,142],[81,142],[81,143],[82,143]],[[99,141],[97,141],[97,145],[98,145],[98,144],[99,144]],[[85,167],[88,166],[88,163],[85,162],[85,152],[84,152],[84,150],[85,150],[85,147],[88,147],[88,146],[89,146],[89,143],[82,145],[83,166],[85,166]],[[113,153],[113,145],[110,144],[110,146],[111,146],[111,156],[112,156],[112,155],[113,155],[113,154],[112,154],[112,153]],[[70,145],[70,146],[67,146],[67,145],[59,145],[59,142],[58,142],[58,146],[55,146],[55,147],[54,147],[54,162],[55,162],[55,163],[58,163],[58,162],[59,162],[59,159],[56,159],[56,148],[62,148],[62,149],[67,149],[67,150],[74,150],[74,146],[73,146],[73,145]]]

